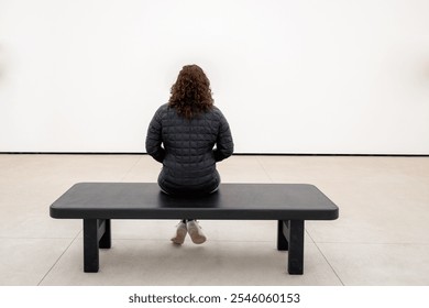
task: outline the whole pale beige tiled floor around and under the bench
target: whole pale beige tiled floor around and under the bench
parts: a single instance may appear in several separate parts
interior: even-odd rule
[[[309,183],[340,207],[309,221],[305,274],[288,275],[275,221],[202,220],[208,242],[174,246],[177,221],[113,220],[100,272],[82,272],[82,223],[50,205],[78,182],[156,182],[146,155],[0,155],[0,285],[429,285],[429,157],[233,156],[224,183]]]

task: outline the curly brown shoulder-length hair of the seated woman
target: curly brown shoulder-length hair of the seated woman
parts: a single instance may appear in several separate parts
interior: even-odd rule
[[[213,107],[210,80],[198,65],[185,65],[176,82],[172,86],[168,106],[186,119],[193,119],[198,113]]]

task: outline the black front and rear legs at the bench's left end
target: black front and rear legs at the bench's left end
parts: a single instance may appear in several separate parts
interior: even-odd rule
[[[110,219],[84,219],[84,272],[99,270],[99,248],[110,249]]]

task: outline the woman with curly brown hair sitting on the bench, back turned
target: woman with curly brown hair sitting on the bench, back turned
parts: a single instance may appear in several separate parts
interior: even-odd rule
[[[228,121],[213,106],[210,81],[197,65],[183,67],[170,94],[146,136],[147,154],[163,164],[158,185],[173,196],[211,194],[220,184],[216,163],[234,147]],[[206,241],[195,219],[182,220],[172,241],[183,244],[187,233],[196,244]]]

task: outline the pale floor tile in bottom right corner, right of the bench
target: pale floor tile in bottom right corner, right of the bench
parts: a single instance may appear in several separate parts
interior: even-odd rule
[[[429,285],[428,244],[318,244],[348,286]]]

